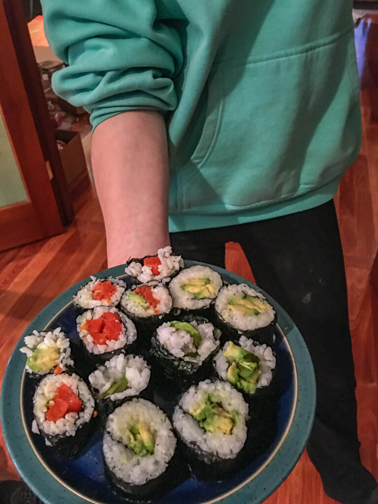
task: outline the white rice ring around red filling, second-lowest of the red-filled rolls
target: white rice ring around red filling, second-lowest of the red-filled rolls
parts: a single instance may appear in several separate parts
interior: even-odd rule
[[[107,340],[106,345],[96,345],[93,341],[92,336],[88,331],[81,330],[81,326],[86,320],[99,319],[103,313],[110,311],[111,313],[117,313],[121,320],[121,330],[117,340]],[[130,345],[137,338],[137,330],[134,323],[126,317],[122,312],[116,308],[111,308],[109,306],[98,306],[93,310],[85,311],[77,319],[77,329],[80,338],[83,340],[87,350],[94,354],[101,354],[105,352],[112,352],[118,348],[123,348],[125,345]]]

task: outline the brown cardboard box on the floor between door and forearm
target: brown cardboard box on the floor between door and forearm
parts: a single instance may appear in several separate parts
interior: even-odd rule
[[[55,130],[55,139],[66,143],[59,149],[59,154],[67,183],[71,186],[83,173],[88,175],[80,134],[75,131]]]

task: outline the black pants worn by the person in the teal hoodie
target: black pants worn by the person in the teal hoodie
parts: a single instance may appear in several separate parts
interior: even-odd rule
[[[376,486],[361,466],[344,260],[333,202],[275,219],[171,234],[176,254],[224,268],[225,243],[242,246],[257,284],[288,312],[317,377],[307,451],[325,491],[361,504]]]

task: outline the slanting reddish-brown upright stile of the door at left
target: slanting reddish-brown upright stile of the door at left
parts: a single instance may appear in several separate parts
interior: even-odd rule
[[[61,219],[18,66],[3,2],[0,2],[0,103],[25,184],[45,236],[62,231]],[[43,195],[43,196],[41,196]]]

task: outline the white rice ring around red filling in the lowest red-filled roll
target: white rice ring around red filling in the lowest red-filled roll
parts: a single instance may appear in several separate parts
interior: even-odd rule
[[[66,384],[72,392],[82,401],[82,409],[79,413],[67,413],[64,418],[59,418],[56,422],[46,420],[49,403],[55,396],[56,389],[60,385]],[[77,374],[49,374],[44,377],[38,385],[33,397],[34,422],[33,432],[41,430],[49,435],[66,434],[74,436],[76,430],[83,423],[87,423],[94,410],[94,400],[86,384]]]

